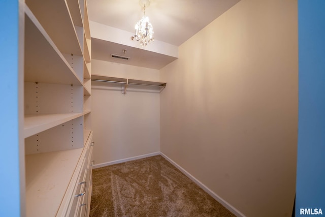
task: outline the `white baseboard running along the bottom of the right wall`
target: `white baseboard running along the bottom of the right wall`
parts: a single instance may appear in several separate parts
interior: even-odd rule
[[[194,176],[192,176],[189,172],[187,172],[186,170],[184,170],[181,166],[179,166],[178,164],[176,164],[172,159],[168,158],[163,152],[160,152],[160,155],[163,156],[171,164],[173,164],[177,169],[179,169],[189,179],[191,179],[192,181],[194,181],[195,183],[197,183],[205,192],[207,192],[209,195],[211,195],[216,201],[218,201],[219,203],[221,203],[229,211],[231,211],[232,213],[234,213],[236,216],[245,217],[245,215],[243,213],[241,213],[240,211],[238,211],[235,207],[233,207],[228,202],[226,202],[221,197],[219,197],[216,193],[214,193],[213,191],[211,191],[208,187],[206,187],[206,185],[204,185],[201,181],[199,181]]]

